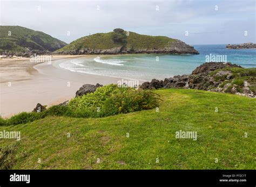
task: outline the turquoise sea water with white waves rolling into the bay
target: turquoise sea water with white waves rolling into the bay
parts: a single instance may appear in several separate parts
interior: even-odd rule
[[[199,55],[99,55],[68,60],[59,66],[80,73],[143,81],[150,81],[152,78],[163,80],[174,75],[190,74],[200,64],[207,62],[207,55],[208,57],[221,55],[227,62],[239,64],[244,68],[256,68],[256,49],[226,49],[225,46],[194,45]]]

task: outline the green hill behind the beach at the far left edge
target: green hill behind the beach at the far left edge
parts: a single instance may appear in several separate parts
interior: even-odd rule
[[[25,52],[25,47],[56,51],[66,43],[40,31],[21,26],[0,26],[0,52]]]

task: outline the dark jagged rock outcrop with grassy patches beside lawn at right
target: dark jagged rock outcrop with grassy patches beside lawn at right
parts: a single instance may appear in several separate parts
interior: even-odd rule
[[[239,68],[232,72],[232,68]],[[256,69],[243,71],[241,66],[231,64],[230,62],[208,62],[201,64],[192,71],[190,75],[177,75],[171,78],[165,78],[164,81],[153,79],[151,82],[144,82],[140,85],[141,89],[160,89],[160,88],[186,88],[199,89],[215,92],[233,93],[246,97],[256,97]],[[241,71],[241,73],[239,72]],[[244,81],[246,77],[248,81]],[[235,83],[239,83],[239,85]],[[253,90],[250,89],[253,88]]]

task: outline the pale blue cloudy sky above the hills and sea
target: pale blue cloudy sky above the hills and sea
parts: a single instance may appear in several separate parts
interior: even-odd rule
[[[43,31],[67,43],[123,28],[187,44],[256,42],[255,0],[0,0],[0,25]]]

